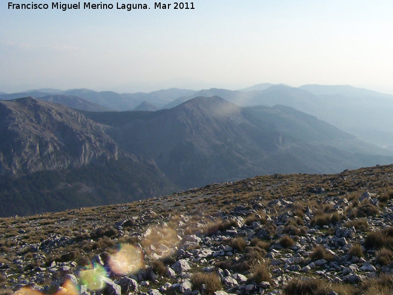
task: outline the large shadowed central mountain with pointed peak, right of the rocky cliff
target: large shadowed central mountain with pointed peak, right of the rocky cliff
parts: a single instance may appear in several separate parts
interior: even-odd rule
[[[131,113],[85,114],[108,125],[108,134],[122,150],[153,158],[181,188],[393,162],[393,157],[378,154],[382,149],[285,106],[245,108],[213,96],[158,112]]]

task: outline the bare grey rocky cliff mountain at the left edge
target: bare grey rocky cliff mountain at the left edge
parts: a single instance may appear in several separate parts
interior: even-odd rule
[[[117,159],[117,145],[84,115],[31,97],[0,101],[0,175]]]

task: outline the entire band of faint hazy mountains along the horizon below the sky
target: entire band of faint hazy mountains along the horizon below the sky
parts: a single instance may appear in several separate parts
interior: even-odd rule
[[[25,96],[45,99],[44,97],[56,95],[63,95],[56,98],[57,103],[87,111],[103,111],[103,108],[114,111],[154,111],[157,108],[173,108],[195,97],[215,95],[239,106],[272,107],[281,104],[322,119],[364,141],[393,150],[393,132],[390,128],[393,125],[393,118],[390,116],[393,111],[393,95],[348,85],[304,85],[295,88],[285,84],[264,83],[239,90],[163,89],[150,93],[123,94],[90,89],[37,89],[0,94],[0,99]],[[75,97],[67,96],[77,96],[80,101],[76,103]]]

